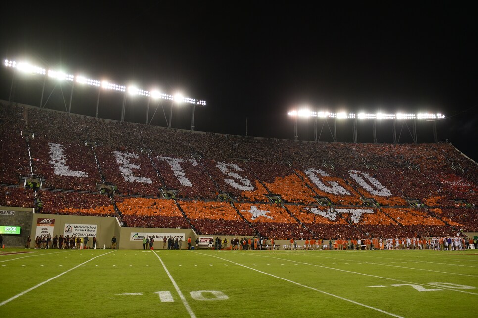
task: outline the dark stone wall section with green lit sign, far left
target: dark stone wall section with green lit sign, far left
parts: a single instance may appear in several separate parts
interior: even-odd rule
[[[21,227],[20,234],[2,234],[3,245],[5,247],[25,247],[32,229],[33,209],[0,206],[0,210],[7,211],[6,214],[0,214],[0,225]]]

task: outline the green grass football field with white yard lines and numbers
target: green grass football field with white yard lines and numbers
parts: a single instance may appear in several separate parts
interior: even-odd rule
[[[30,251],[0,256],[0,317],[478,314],[473,250]]]

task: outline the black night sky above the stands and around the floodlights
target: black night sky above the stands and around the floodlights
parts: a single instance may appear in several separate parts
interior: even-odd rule
[[[355,113],[442,112],[438,139],[478,160],[477,4],[98,2],[3,4],[1,58],[180,90],[207,101],[195,111],[201,131],[244,135],[247,118],[250,136],[292,139],[287,112],[305,104]],[[4,66],[0,72],[0,98],[8,99],[13,73]],[[14,101],[39,105],[43,78],[15,84]],[[47,81],[46,107],[64,110],[70,87]],[[95,116],[96,98],[93,88],[75,88],[72,112]],[[119,119],[121,103],[121,94],[102,93],[100,117]],[[126,119],[143,123],[146,105],[146,98],[128,98]],[[174,108],[172,126],[190,129],[191,109]],[[161,108],[152,123],[166,125]],[[299,120],[299,139],[314,139],[314,123]],[[332,140],[332,124],[318,122],[321,141]],[[372,124],[358,124],[359,141],[372,142]],[[433,141],[432,125],[417,123],[419,142]],[[352,141],[351,127],[350,120],[337,124],[338,141]],[[411,122],[397,123],[400,142],[411,142],[411,129]],[[391,131],[391,121],[379,122],[378,141],[391,142]]]

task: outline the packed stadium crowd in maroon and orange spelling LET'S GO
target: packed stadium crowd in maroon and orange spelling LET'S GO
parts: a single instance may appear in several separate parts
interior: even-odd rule
[[[7,105],[0,114],[0,180],[10,186],[0,188],[5,206],[40,200],[44,213],[112,216],[116,203],[128,226],[192,224],[201,233],[278,238],[478,230],[478,168],[450,144],[298,143]],[[25,130],[35,138],[27,142]],[[36,198],[21,188],[20,177],[32,173],[44,180]],[[99,192],[103,182],[116,186],[110,197]],[[177,190],[173,199],[184,214],[173,200],[158,199],[162,188]],[[233,205],[210,202],[224,193]],[[280,199],[269,199],[275,195]],[[420,203],[407,207],[410,198]]]

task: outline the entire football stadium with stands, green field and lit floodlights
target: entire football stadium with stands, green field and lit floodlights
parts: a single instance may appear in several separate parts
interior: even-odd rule
[[[108,85],[97,89],[126,96]],[[0,109],[2,316],[476,315],[477,164],[449,143],[302,142],[11,100]]]

